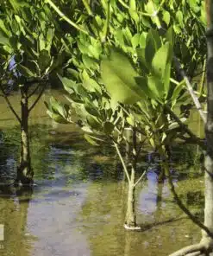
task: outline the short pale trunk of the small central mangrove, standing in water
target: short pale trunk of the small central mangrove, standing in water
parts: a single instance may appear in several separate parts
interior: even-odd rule
[[[130,182],[128,182],[128,203],[125,225],[127,228],[136,227],[135,215],[135,169],[132,168]]]

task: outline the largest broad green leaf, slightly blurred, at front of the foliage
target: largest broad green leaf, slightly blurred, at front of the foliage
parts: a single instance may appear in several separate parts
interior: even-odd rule
[[[112,101],[134,104],[142,99],[141,87],[135,82],[138,74],[121,51],[111,49],[110,56],[101,61],[101,75]]]

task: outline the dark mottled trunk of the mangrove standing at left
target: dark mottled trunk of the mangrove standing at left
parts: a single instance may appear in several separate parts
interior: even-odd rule
[[[23,91],[21,107],[21,157],[20,165],[17,169],[16,183],[22,182],[22,184],[29,184],[33,182],[34,172],[31,167],[28,138],[28,97]]]

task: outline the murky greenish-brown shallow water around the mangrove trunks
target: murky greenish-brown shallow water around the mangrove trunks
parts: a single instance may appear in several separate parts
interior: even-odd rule
[[[0,130],[6,144],[0,144],[0,255],[160,256],[200,240],[199,229],[175,205],[167,183],[156,183],[154,164],[137,188],[143,231],[126,232],[122,224],[127,186],[115,152],[91,147],[74,125],[53,123],[42,101],[30,118],[35,186],[26,191],[9,186],[16,176],[19,130],[0,98]],[[18,107],[16,97],[11,102]],[[196,155],[198,159],[195,147],[177,146],[172,169],[179,195],[201,215],[204,182]]]

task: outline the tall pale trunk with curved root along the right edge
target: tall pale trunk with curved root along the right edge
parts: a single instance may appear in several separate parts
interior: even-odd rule
[[[206,155],[205,155],[205,208],[204,231],[199,244],[185,247],[171,256],[208,255],[213,256],[213,1],[206,0],[207,17],[207,122],[205,125]],[[208,231],[208,232],[207,232]],[[208,233],[208,234],[207,234]]]

